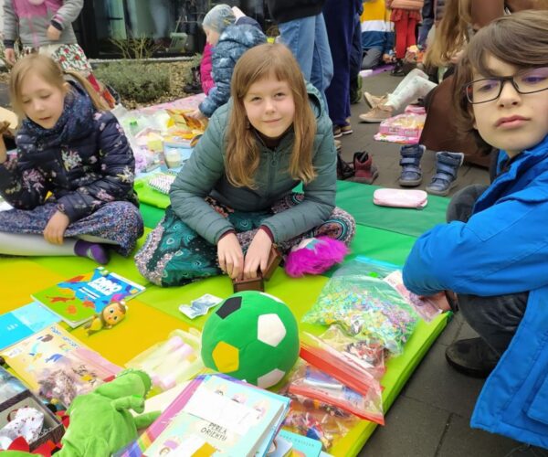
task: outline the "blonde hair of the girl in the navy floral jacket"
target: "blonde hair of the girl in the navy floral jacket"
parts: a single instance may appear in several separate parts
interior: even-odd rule
[[[17,115],[21,118],[25,117],[23,103],[21,102],[21,86],[23,80],[31,74],[39,75],[48,84],[57,87],[59,90],[66,91],[65,75],[76,80],[88,94],[93,106],[99,111],[108,110],[108,107],[101,101],[98,93],[93,89],[91,84],[82,75],[76,71],[63,71],[58,63],[44,54],[29,54],[24,58],[17,60],[16,65],[10,72],[9,78],[9,96],[12,106]]]

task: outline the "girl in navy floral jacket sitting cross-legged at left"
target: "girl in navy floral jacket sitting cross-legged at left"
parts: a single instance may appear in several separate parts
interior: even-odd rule
[[[41,54],[11,71],[11,101],[25,120],[16,156],[8,158],[0,140],[0,194],[15,207],[0,212],[0,254],[78,255],[104,264],[107,245],[127,256],[142,236],[135,161],[116,118],[100,111],[86,80],[69,75],[67,82]]]

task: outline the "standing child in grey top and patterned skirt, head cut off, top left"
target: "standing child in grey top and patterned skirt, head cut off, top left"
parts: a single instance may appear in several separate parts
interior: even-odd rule
[[[4,0],[5,59],[10,65],[16,63],[14,45],[19,37],[24,54],[46,54],[63,70],[79,71],[109,107],[114,108],[111,92],[93,76],[90,62],[72,29],[83,5],[83,0]]]

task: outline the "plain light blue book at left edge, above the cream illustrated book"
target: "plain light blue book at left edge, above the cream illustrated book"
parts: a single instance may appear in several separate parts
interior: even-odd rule
[[[28,303],[14,311],[0,315],[0,350],[15,345],[27,336],[39,332],[47,325],[59,322],[52,313],[37,302]]]

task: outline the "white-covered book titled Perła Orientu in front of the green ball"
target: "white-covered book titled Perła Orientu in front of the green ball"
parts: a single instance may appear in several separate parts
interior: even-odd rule
[[[266,455],[290,399],[226,376],[202,378],[189,385],[195,388],[189,398],[180,396],[182,409],[143,455]]]

